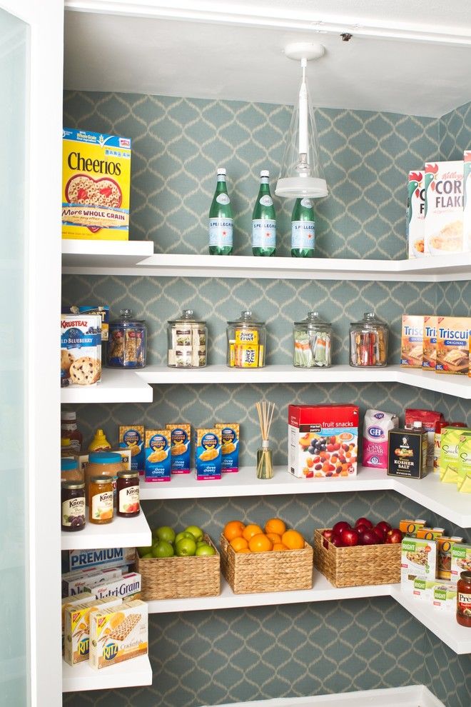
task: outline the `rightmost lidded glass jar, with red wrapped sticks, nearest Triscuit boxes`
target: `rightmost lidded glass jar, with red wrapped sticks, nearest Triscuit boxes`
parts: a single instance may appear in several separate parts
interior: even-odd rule
[[[361,321],[350,323],[350,366],[386,366],[388,324],[374,312],[365,312]]]

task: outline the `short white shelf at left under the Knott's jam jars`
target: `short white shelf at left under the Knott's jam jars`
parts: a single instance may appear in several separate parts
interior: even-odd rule
[[[88,518],[88,507],[86,509]],[[101,526],[86,523],[76,533],[61,531],[61,550],[91,550],[93,548],[132,548],[151,544],[151,528],[143,511],[136,518],[115,516],[111,523]]]

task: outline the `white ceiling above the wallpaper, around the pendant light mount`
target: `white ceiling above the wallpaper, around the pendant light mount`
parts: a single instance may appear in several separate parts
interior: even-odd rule
[[[471,100],[470,0],[66,0],[66,89],[442,116]],[[446,14],[444,10],[446,9]],[[340,40],[342,31],[353,39]]]

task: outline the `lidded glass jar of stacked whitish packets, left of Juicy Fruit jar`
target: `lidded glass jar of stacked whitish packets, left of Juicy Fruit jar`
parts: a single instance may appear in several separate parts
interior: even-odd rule
[[[167,339],[167,366],[172,368],[206,366],[208,328],[206,321],[195,319],[193,309],[184,309],[178,319],[168,320]]]

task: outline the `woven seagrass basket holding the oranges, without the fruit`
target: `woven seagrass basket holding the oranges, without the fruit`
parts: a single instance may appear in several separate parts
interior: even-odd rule
[[[235,594],[310,589],[313,586],[313,548],[236,553],[221,535],[221,569]]]

